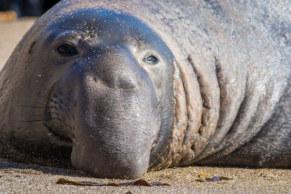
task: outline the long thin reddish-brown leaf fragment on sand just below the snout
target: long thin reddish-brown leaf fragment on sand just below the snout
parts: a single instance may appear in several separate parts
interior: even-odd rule
[[[96,183],[96,182],[87,182],[87,181],[77,182],[77,181],[67,180],[65,178],[60,178],[56,183],[57,184],[70,184],[70,185],[77,185],[77,186],[114,186],[114,187],[121,187],[121,186],[124,186],[124,187],[128,187],[128,186],[149,186],[149,187],[152,187],[152,186],[170,186],[167,183],[160,183],[160,182],[150,184],[144,179],[138,179],[138,180],[135,180],[132,182],[124,182],[124,183],[113,182],[113,183],[108,183],[105,185],[100,185],[99,183]]]

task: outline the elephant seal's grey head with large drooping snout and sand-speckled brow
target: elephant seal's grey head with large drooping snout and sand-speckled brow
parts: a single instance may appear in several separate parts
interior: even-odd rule
[[[72,165],[99,177],[138,175],[159,160],[173,126],[174,57],[148,26],[124,13],[77,10],[51,22],[30,54],[27,96],[18,101],[34,91],[31,101],[46,108],[22,114],[45,119],[18,125],[42,134],[30,144],[46,149],[35,152],[72,149]]]

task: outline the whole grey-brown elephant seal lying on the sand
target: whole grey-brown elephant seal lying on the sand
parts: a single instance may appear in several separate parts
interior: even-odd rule
[[[61,1],[1,71],[1,156],[99,177],[290,167],[290,7]]]

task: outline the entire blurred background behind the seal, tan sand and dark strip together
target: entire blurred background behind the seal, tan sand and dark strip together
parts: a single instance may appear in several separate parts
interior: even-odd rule
[[[35,20],[60,0],[0,0],[0,70]]]

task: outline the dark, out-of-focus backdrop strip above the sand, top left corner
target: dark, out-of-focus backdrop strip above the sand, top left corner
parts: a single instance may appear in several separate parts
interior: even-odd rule
[[[60,0],[0,0],[0,11],[14,11],[18,17],[41,16]]]

